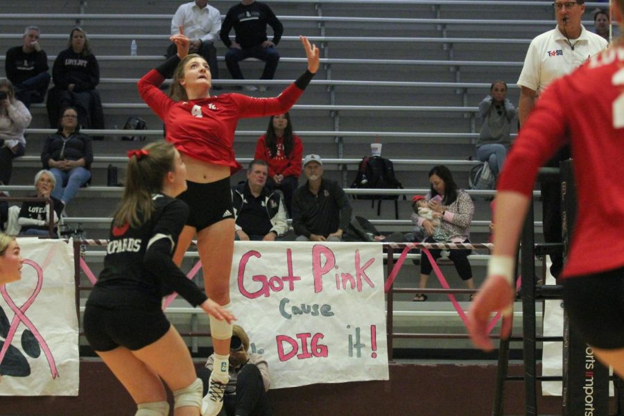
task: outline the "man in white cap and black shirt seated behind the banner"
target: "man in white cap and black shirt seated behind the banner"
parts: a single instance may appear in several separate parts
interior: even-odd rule
[[[341,241],[353,209],[338,182],[324,179],[319,155],[304,158],[307,182],[293,195],[297,241]]]

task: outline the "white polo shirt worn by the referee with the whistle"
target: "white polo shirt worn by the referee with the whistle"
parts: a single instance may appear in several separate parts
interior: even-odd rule
[[[571,73],[607,47],[603,37],[587,31],[582,25],[580,37],[570,42],[574,50],[557,27],[535,37],[524,58],[518,85],[541,93],[551,81]]]

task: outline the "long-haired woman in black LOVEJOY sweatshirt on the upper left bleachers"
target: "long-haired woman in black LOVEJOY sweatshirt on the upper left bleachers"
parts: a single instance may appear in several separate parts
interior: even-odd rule
[[[66,107],[78,110],[78,125],[83,128],[104,128],[104,115],[100,94],[100,67],[91,51],[87,34],[73,28],[68,47],[60,52],[52,67],[54,88],[48,94],[50,127],[55,128]]]

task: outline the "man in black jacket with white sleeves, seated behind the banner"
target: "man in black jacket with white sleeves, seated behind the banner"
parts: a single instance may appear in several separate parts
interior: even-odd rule
[[[265,186],[267,176],[266,162],[255,159],[249,165],[247,182],[232,191],[237,240],[275,241],[288,231],[281,193]]]

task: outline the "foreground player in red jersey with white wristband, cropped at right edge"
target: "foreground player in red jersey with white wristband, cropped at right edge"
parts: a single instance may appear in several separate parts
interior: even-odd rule
[[[624,0],[614,0],[612,15],[624,29]],[[571,145],[578,196],[564,307],[600,361],[624,376],[624,37],[549,85],[522,126],[499,179],[493,255],[468,329],[477,347],[491,350],[487,320],[505,311],[509,336],[523,218],[539,166],[564,144]]]

